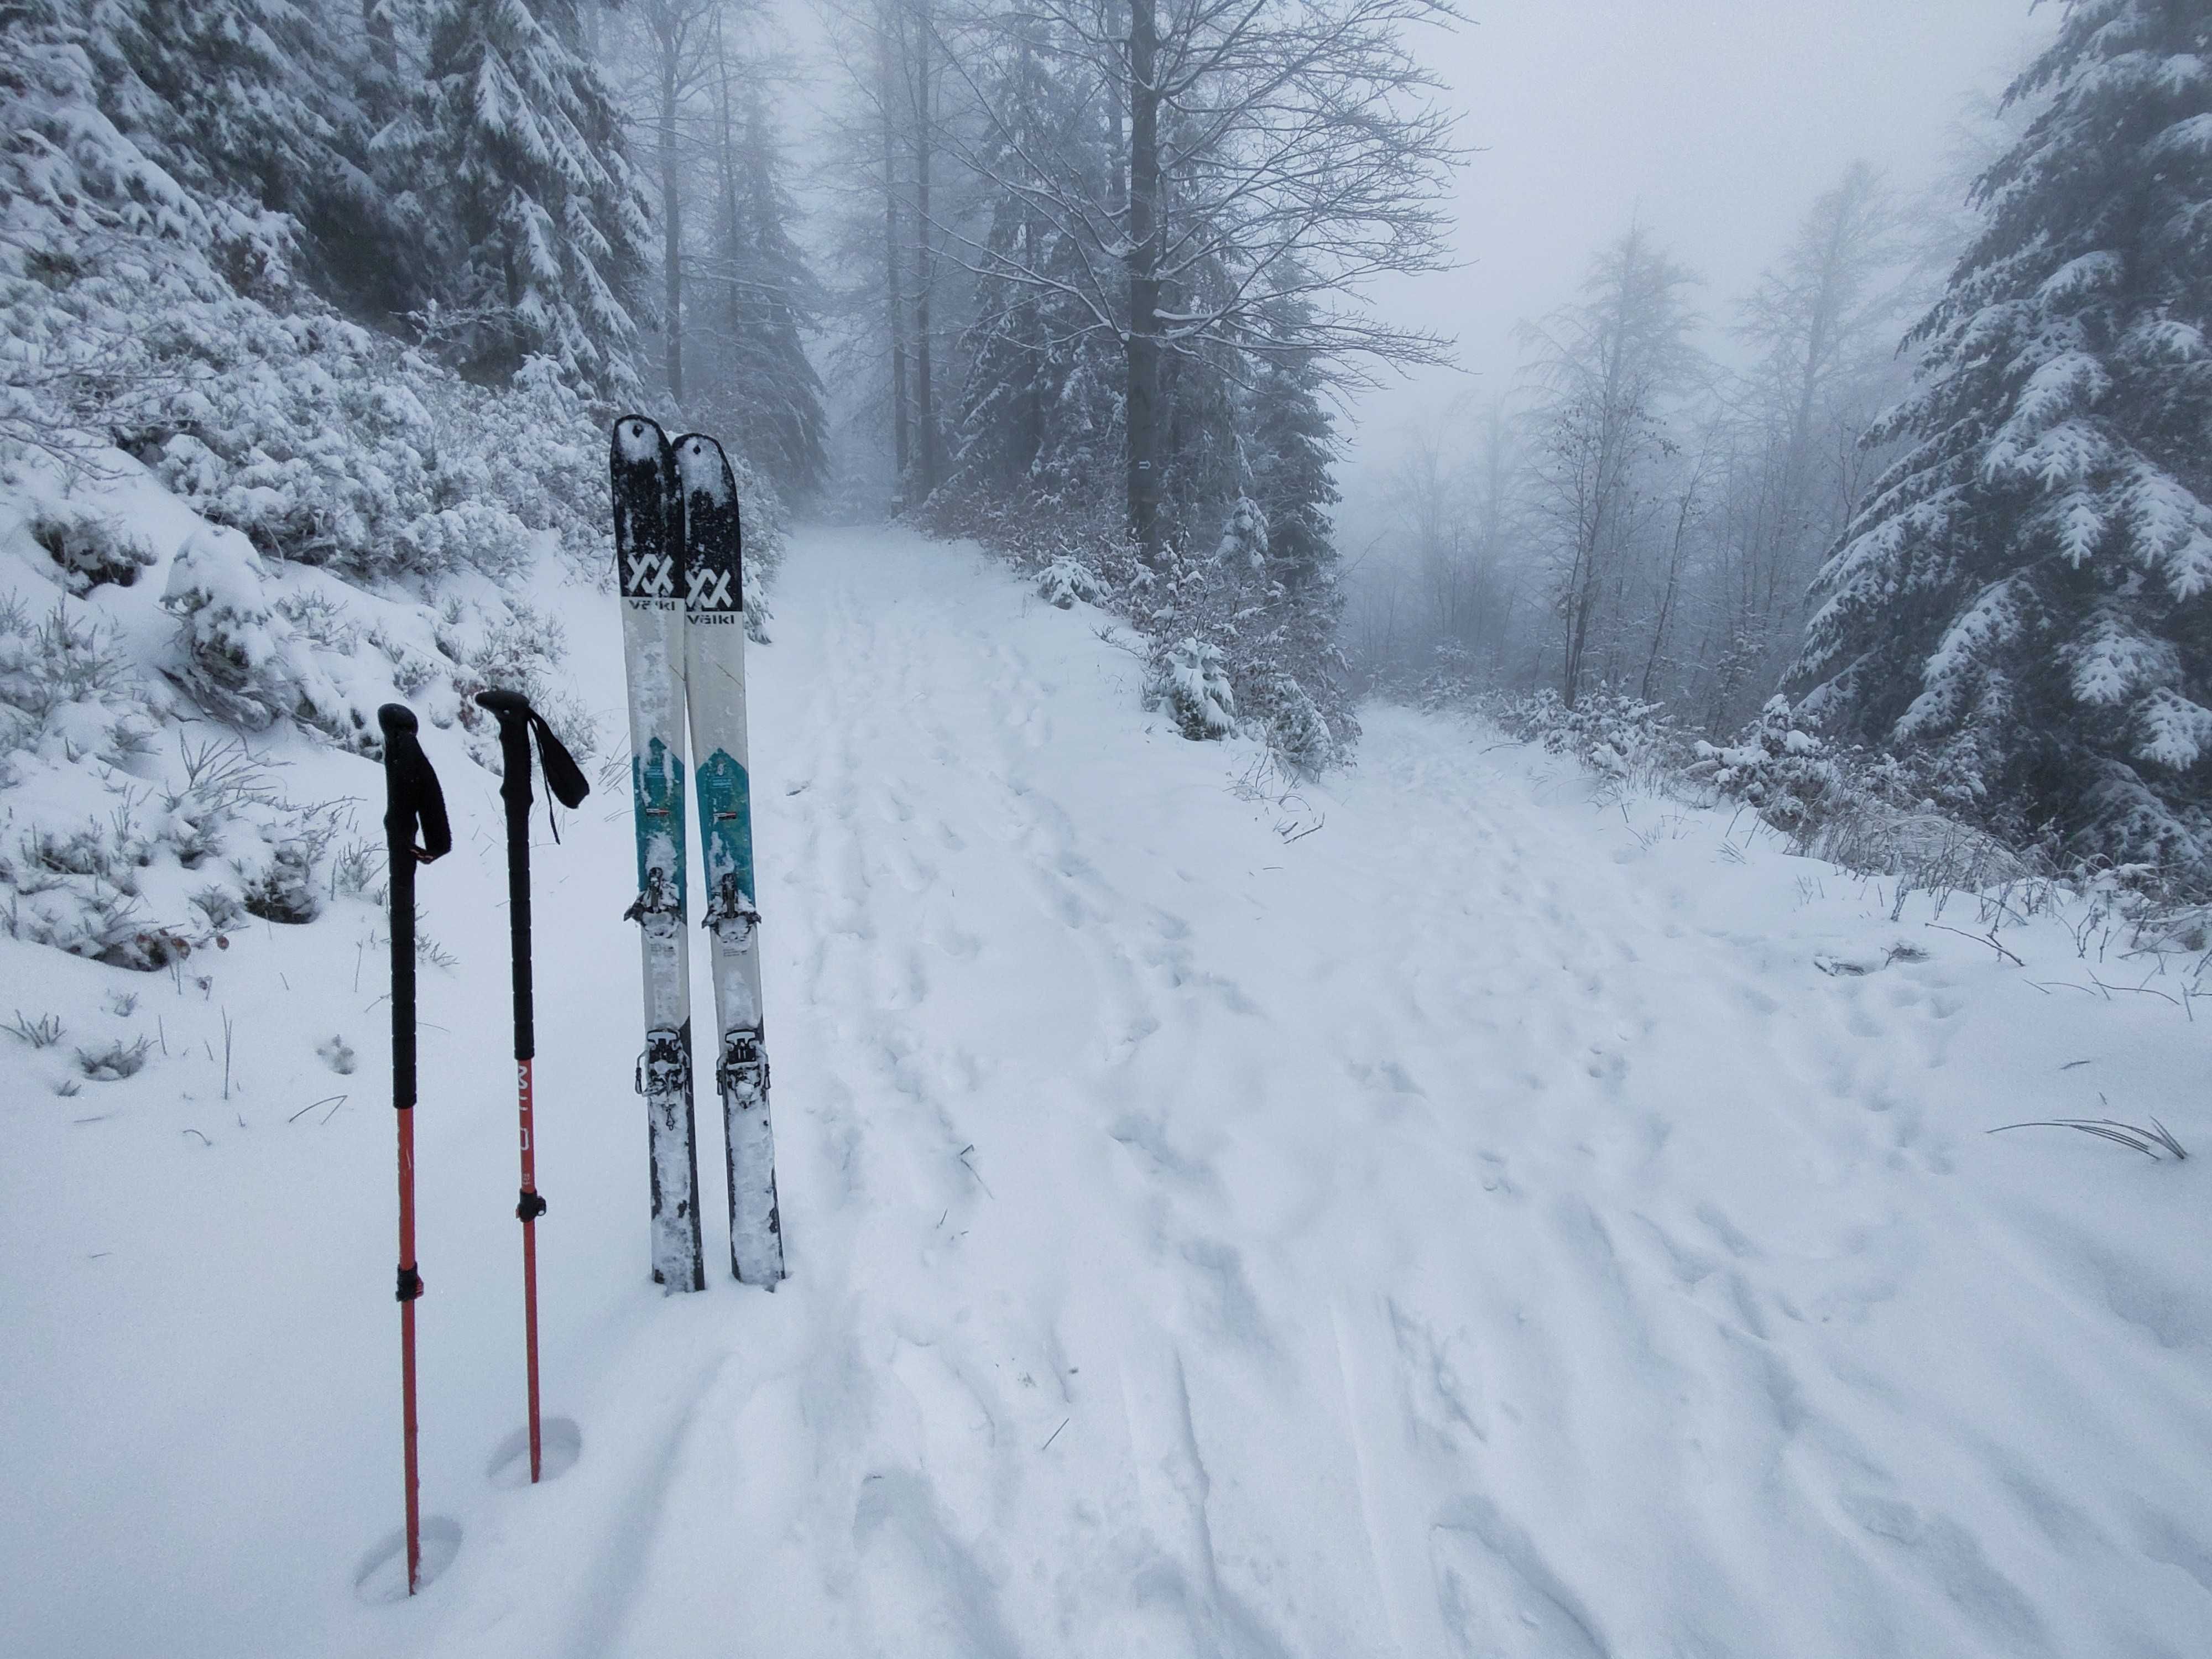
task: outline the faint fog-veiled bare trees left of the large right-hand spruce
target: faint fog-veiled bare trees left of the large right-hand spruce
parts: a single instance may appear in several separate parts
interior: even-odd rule
[[[1865,164],[1723,319],[1630,226],[1517,330],[1509,394],[1413,434],[1389,482],[1400,557],[1356,584],[1363,672],[1566,703],[1608,686],[1734,732],[1796,657],[1812,577],[1889,458],[1860,440],[1911,385],[1898,338],[1931,296],[1924,243]]]

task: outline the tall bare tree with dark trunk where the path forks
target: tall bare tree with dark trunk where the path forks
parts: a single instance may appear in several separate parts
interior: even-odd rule
[[[1307,352],[1338,385],[1376,361],[1444,358],[1444,341],[1374,319],[1360,290],[1447,263],[1440,197],[1460,150],[1407,31],[1451,18],[1451,0],[1029,0],[967,24],[1002,51],[1053,53],[1110,126],[1104,177],[951,137],[1048,228],[1040,241],[1077,259],[947,239],[973,274],[1057,294],[1119,343],[1128,524],[1146,557],[1161,551],[1166,354]],[[980,124],[1013,131],[984,80],[960,73]],[[1285,301],[1303,316],[1287,341],[1263,321]]]

